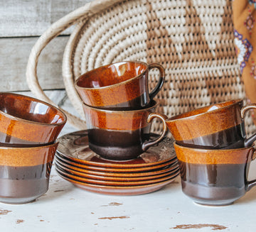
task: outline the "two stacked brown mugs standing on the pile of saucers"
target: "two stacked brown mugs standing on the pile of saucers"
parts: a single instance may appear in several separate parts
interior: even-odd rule
[[[159,80],[149,92],[149,70],[153,68],[159,70]],[[83,101],[90,149],[108,160],[131,160],[164,138],[166,118],[156,113],[154,101],[164,76],[159,64],[124,61],[78,77],[75,88]],[[161,136],[149,140],[153,118],[165,126]]]

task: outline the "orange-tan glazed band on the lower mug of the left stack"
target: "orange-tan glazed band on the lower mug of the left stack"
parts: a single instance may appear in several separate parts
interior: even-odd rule
[[[58,143],[36,148],[0,148],[0,165],[30,167],[53,162]]]

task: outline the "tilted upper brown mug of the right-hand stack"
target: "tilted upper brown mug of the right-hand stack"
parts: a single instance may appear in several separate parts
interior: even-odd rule
[[[243,106],[236,99],[211,104],[166,119],[176,143],[192,148],[231,149],[252,145],[256,134],[246,138],[245,113],[256,109],[256,104]]]

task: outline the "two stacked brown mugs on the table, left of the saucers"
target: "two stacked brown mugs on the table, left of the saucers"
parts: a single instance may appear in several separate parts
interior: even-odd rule
[[[23,204],[48,190],[67,118],[55,106],[29,96],[0,93],[0,201]]]

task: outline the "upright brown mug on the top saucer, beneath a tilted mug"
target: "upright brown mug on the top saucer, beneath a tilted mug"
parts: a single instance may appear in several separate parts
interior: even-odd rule
[[[87,124],[89,148],[108,160],[137,158],[152,145],[159,143],[168,130],[165,116],[155,113],[156,101],[146,109],[110,111],[83,104]],[[149,140],[151,121],[159,118],[164,123],[161,136]]]

